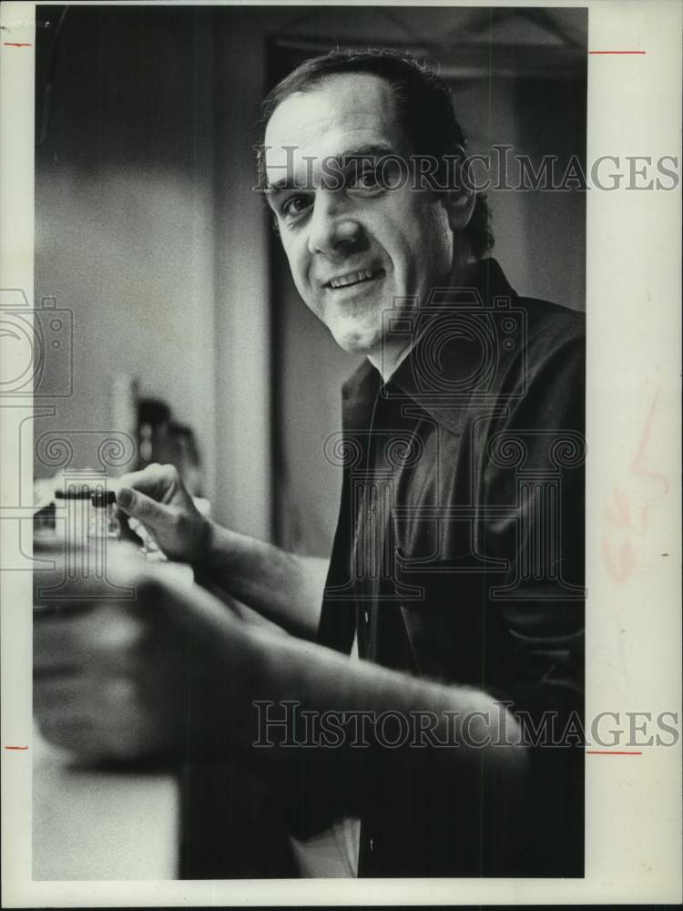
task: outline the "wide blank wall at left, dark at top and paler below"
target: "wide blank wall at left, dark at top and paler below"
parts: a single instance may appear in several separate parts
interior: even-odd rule
[[[54,296],[73,312],[74,394],[36,435],[116,429],[113,378],[135,374],[143,394],[199,431],[210,493],[210,41],[199,19],[153,12],[72,7],[57,46],[49,132],[36,149],[36,301]],[[51,8],[42,15],[54,30]],[[151,67],[155,39],[165,56]],[[42,86],[45,67],[38,76]],[[76,446],[72,466],[92,456]]]

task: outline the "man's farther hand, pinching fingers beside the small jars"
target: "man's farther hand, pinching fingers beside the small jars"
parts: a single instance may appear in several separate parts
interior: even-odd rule
[[[168,558],[197,564],[207,557],[211,524],[174,466],[155,463],[122,476],[117,504],[147,528]]]

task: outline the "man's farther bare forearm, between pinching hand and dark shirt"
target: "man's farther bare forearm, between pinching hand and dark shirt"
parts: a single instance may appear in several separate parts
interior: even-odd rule
[[[315,639],[329,560],[300,557],[211,523],[204,570],[233,598],[302,639]]]

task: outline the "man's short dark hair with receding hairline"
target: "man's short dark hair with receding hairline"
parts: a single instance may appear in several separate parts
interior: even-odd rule
[[[337,49],[305,60],[263,99],[263,133],[275,108],[286,98],[296,92],[310,91],[327,77],[346,73],[368,73],[389,83],[397,117],[416,154],[429,155],[438,161],[443,161],[446,155],[464,156],[464,133],[455,118],[451,92],[443,79],[413,55],[383,48],[366,51]],[[261,141],[260,168],[263,164],[262,147]],[[486,198],[479,194],[472,218],[464,230],[476,259],[481,259],[494,245],[490,220]]]

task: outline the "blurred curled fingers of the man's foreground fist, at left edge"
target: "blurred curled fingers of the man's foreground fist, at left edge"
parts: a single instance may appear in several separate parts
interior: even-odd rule
[[[34,623],[34,711],[48,742],[91,759],[163,752],[175,661],[156,651],[160,624],[142,608],[103,603]],[[181,675],[180,675],[181,676]]]

